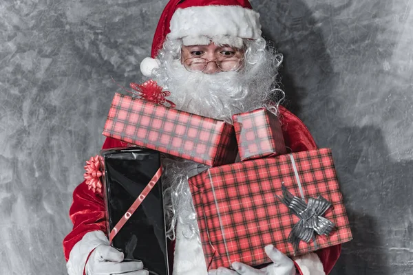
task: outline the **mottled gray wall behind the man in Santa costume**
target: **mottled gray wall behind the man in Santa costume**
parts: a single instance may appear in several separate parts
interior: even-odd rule
[[[0,274],[65,274],[67,212],[166,0],[1,0]],[[329,146],[354,241],[333,274],[413,274],[412,0],[252,1],[288,107]]]

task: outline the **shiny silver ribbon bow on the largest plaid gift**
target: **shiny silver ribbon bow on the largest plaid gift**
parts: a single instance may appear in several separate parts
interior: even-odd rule
[[[291,194],[284,184],[282,185],[282,195],[283,197],[277,197],[300,219],[288,236],[288,241],[293,244],[295,252],[297,252],[301,240],[308,243],[313,239],[314,232],[326,236],[330,234],[335,226],[334,223],[321,217],[330,208],[330,201],[319,196],[317,199],[308,199],[307,204],[304,199]]]

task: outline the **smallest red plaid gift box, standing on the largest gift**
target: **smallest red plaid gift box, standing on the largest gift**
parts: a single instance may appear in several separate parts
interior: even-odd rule
[[[281,124],[267,109],[233,115],[233,122],[242,161],[286,153]]]

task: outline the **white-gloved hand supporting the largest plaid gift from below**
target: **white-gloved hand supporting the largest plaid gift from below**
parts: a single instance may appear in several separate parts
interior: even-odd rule
[[[273,261],[271,265],[262,268],[261,270],[255,270],[255,268],[244,263],[234,262],[232,264],[233,269],[229,270],[225,267],[220,267],[218,270],[211,270],[209,275],[295,275],[295,265],[293,260],[288,258],[285,254],[274,248],[274,245],[267,245],[265,252],[268,258]]]

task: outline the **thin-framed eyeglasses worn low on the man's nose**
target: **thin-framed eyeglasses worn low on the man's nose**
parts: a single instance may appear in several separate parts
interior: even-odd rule
[[[191,57],[185,59],[182,64],[189,72],[204,72],[204,70],[207,69],[209,63],[215,62],[218,69],[220,69],[222,72],[230,72],[240,69],[243,59],[244,58],[233,56],[224,58],[222,60],[215,59],[214,61],[208,61],[207,59],[202,57]]]

